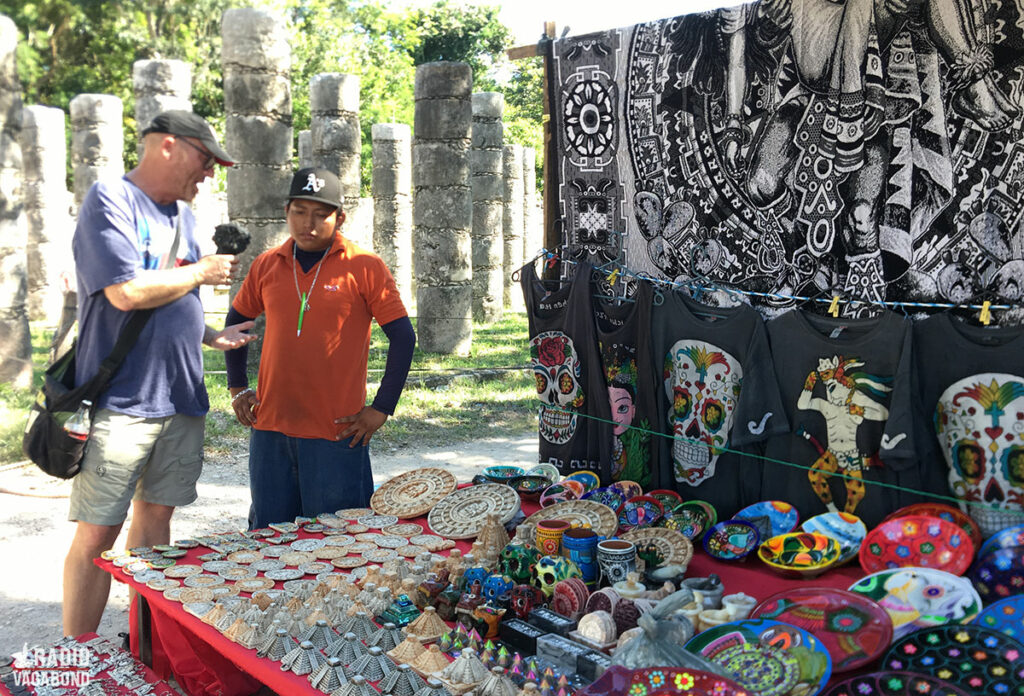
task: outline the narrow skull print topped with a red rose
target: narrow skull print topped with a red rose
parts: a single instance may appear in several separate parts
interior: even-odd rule
[[[541,436],[552,444],[565,444],[575,434],[575,411],[584,402],[580,354],[572,339],[560,331],[530,339],[529,354],[541,399]]]

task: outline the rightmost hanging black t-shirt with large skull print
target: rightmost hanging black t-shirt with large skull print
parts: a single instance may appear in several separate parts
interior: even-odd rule
[[[1024,328],[937,314],[914,327],[922,440],[933,481],[985,536],[1024,523]]]

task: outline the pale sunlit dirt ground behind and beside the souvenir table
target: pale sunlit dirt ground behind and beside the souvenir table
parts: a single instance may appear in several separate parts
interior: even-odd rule
[[[529,432],[449,447],[378,448],[372,458],[378,484],[419,467],[446,469],[462,482],[494,464],[532,466],[537,452],[537,433]],[[207,461],[199,499],[175,513],[172,538],[245,527],[247,458],[246,445],[240,442],[236,452]],[[70,489],[70,482],[50,479],[34,467],[0,469],[0,656],[61,636],[61,568],[75,529],[68,522]],[[118,548],[124,539],[122,530]],[[126,630],[127,585],[115,581],[98,633],[113,640]]]

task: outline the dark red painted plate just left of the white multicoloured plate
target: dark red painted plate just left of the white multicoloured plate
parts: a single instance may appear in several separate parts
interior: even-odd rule
[[[833,588],[780,592],[755,607],[751,618],[770,618],[811,633],[828,651],[836,672],[873,661],[893,637],[892,619],[877,602]]]

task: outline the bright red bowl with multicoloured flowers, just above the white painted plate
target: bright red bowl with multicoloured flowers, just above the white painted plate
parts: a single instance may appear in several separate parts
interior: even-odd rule
[[[963,575],[974,558],[968,533],[938,517],[910,515],[883,522],[860,545],[866,573],[886,568],[936,568]]]

